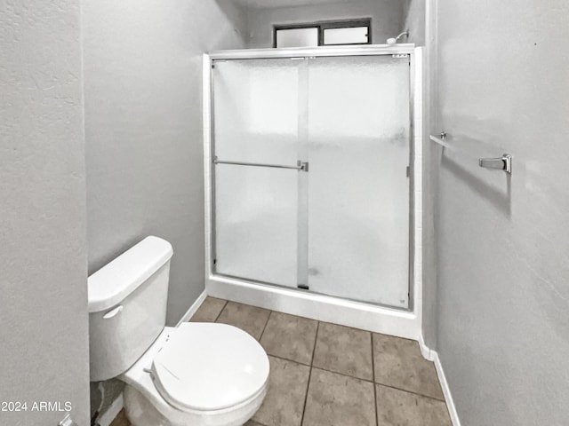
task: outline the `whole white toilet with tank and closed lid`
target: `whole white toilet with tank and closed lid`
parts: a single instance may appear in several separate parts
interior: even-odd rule
[[[91,381],[126,383],[133,426],[241,426],[267,393],[267,353],[225,324],[164,327],[172,253],[150,236],[89,277]]]

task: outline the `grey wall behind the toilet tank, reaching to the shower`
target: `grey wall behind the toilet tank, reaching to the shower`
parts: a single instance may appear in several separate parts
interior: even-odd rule
[[[84,2],[89,273],[153,234],[172,242],[167,320],[204,291],[202,54],[244,47],[229,2]],[[92,385],[104,413],[122,384]]]

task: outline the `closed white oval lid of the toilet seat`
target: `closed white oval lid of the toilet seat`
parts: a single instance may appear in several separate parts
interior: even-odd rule
[[[243,330],[225,324],[184,323],[152,363],[156,389],[183,410],[236,406],[268,379],[268,357]]]

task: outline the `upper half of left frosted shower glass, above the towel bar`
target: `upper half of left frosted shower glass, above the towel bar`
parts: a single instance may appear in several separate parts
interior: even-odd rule
[[[290,59],[216,61],[213,138],[220,160],[296,164],[298,64]]]

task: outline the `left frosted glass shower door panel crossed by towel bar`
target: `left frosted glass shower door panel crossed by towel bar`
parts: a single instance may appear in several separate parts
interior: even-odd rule
[[[218,161],[295,166],[298,64],[216,61],[213,155]],[[216,272],[296,288],[299,171],[214,166]]]

